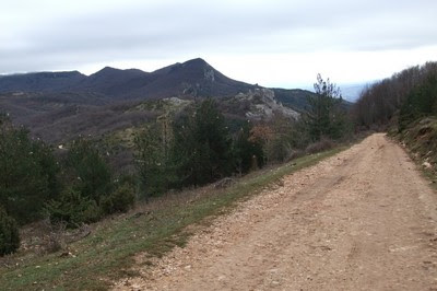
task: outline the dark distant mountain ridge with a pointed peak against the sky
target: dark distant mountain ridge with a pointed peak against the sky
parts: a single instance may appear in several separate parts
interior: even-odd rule
[[[98,93],[113,100],[232,96],[253,88],[227,78],[203,59],[174,63],[151,73],[137,69],[119,70],[106,67],[88,77],[72,71],[0,78],[0,93]]]

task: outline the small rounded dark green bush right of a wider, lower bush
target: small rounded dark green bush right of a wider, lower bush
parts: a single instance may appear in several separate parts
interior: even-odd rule
[[[135,191],[129,184],[119,186],[109,196],[102,197],[101,207],[106,214],[126,212],[135,202]]]

